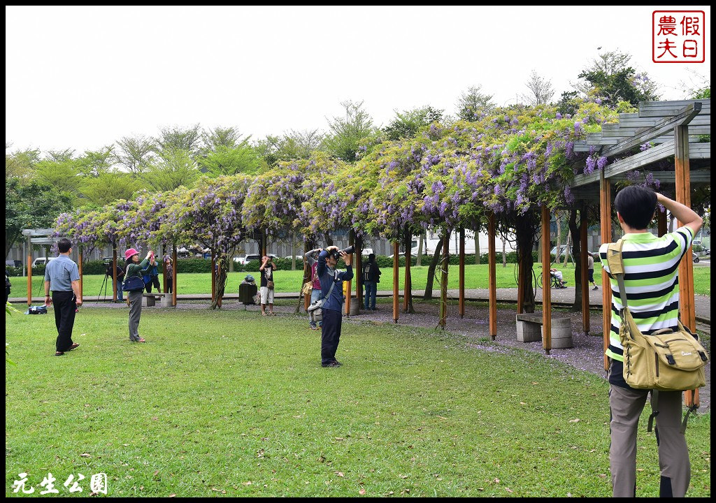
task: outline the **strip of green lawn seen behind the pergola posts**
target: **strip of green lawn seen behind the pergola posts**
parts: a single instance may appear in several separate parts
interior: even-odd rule
[[[535,264],[536,274],[541,273],[539,264]],[[557,267],[562,271],[563,277],[568,281],[568,285],[574,286],[574,268],[571,265],[566,267]],[[458,288],[458,271],[457,265],[451,265],[448,274],[448,288]],[[423,290],[427,282],[427,266],[410,268],[412,285],[416,290]],[[515,280],[516,270],[514,264],[508,264],[503,267],[498,263],[496,268],[497,288],[517,288]],[[382,269],[382,276],[378,285],[379,290],[392,290],[393,275],[392,268]],[[238,285],[246,274],[253,275],[258,280],[258,273],[229,273],[228,283],[226,285],[226,293],[238,293]],[[274,273],[276,291],[277,292],[298,292],[303,278],[302,270],[277,270]],[[83,278],[83,294],[85,296],[96,296],[102,290],[103,275],[86,275]],[[405,282],[405,270],[400,269],[399,288],[403,288]],[[437,278],[436,278],[437,279]],[[595,264],[594,280],[597,285],[601,285],[601,265]],[[26,296],[26,278],[12,278],[12,296]],[[42,290],[43,278],[33,276],[32,292],[33,296],[44,295]],[[161,279],[160,279],[161,283]],[[211,275],[209,273],[185,273],[178,275],[177,283],[179,285],[177,293],[211,293]],[[694,268],[694,284],[696,293],[700,295],[711,295],[711,268],[695,267]],[[433,286],[435,290],[439,288],[437,283]],[[488,288],[488,265],[465,265],[465,288]],[[104,293],[104,292],[103,292]],[[112,296],[112,283],[107,288],[107,296]]]

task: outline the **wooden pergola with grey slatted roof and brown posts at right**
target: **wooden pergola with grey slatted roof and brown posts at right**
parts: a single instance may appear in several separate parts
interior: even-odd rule
[[[611,229],[611,185],[628,177],[628,173],[637,169],[647,169],[659,180],[661,187],[673,189],[676,200],[690,206],[690,192],[695,187],[711,183],[711,144],[710,138],[703,135],[711,133],[711,100],[681,100],[669,102],[640,102],[639,112],[619,114],[616,124],[604,124],[599,133],[590,133],[587,139],[574,145],[575,152],[593,152],[607,157],[611,164],[604,170],[596,170],[589,175],[578,175],[571,184],[573,195],[586,203],[598,204],[601,212],[601,235],[604,242],[612,240]],[[704,141],[706,140],[706,141]],[[642,152],[633,153],[644,144],[654,145]],[[673,157],[673,161],[671,158]],[[551,243],[549,228],[551,211],[542,208],[541,224],[543,228],[541,253],[543,260],[549,260]],[[659,235],[667,232],[667,221],[664,213],[659,213]],[[488,235],[490,248],[489,257],[489,333],[493,340],[497,335],[497,295],[495,280],[495,220],[488,218]],[[581,249],[587,248],[587,222],[581,221]],[[444,243],[442,253],[447,254]],[[465,238],[460,234],[459,269],[459,312],[465,313]],[[393,320],[399,318],[398,302],[398,245],[395,243],[393,262]],[[688,255],[687,255],[688,256]],[[543,266],[544,267],[544,266]],[[406,278],[410,269],[410,255],[406,255]],[[524,271],[520,271],[520,276]],[[582,321],[584,332],[589,333],[589,283],[587,281],[587,255],[581,253],[581,288],[582,288]],[[603,285],[609,285],[609,278],[603,272]],[[682,260],[679,265],[679,294],[681,318],[685,326],[695,331],[695,305],[693,264],[691,260]],[[407,283],[407,281],[406,281]],[[359,285],[358,285],[359,286]],[[520,282],[521,287],[521,282]],[[551,350],[551,290],[549,281],[543,281],[543,347],[546,353]],[[405,288],[404,295],[410,293]],[[602,289],[602,311],[604,324],[604,350],[609,345],[609,329],[611,324],[611,289]],[[442,296],[445,296],[443,288]],[[405,299],[407,304],[407,299]],[[445,299],[441,299],[441,306]],[[522,312],[523,296],[518,293],[518,313]],[[349,301],[347,300],[347,303]],[[347,311],[348,313],[348,304]],[[445,326],[445,312],[440,311],[440,326]],[[604,356],[604,368],[608,361]]]

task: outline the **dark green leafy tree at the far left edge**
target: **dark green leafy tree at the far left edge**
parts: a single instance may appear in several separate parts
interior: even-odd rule
[[[69,210],[72,198],[37,180],[5,180],[5,257],[23,229],[52,228],[57,215]]]

